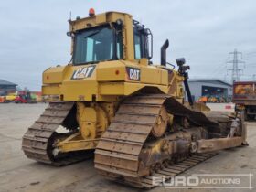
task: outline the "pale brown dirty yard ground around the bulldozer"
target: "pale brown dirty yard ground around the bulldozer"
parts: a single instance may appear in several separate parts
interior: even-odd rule
[[[52,167],[27,159],[21,151],[21,137],[44,111],[46,104],[0,104],[0,191],[141,191],[133,187],[105,180],[93,168],[93,160],[65,167]],[[218,106],[215,106],[218,108]],[[253,174],[256,179],[256,123],[248,124],[248,147],[219,152],[183,173],[192,174]],[[241,182],[249,183],[248,176]],[[156,187],[150,191],[198,191],[198,189],[166,189]],[[200,191],[249,191],[249,189],[200,189]],[[255,188],[251,189],[255,191]]]

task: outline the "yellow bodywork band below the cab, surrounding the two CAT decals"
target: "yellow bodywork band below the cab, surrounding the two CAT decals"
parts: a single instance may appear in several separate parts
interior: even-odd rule
[[[80,80],[72,79],[76,71],[90,66],[96,66],[90,77]],[[126,67],[141,69],[141,80],[129,80]],[[165,69],[138,65],[124,60],[105,61],[97,65],[69,65],[65,68],[52,68],[44,73],[44,76],[46,75],[53,76],[53,78],[49,78],[48,84],[45,83],[43,86],[43,94],[59,94],[63,96],[61,98],[64,101],[92,101],[93,96],[97,101],[104,101],[106,98],[101,95],[130,95],[145,86],[158,87],[163,92],[168,89],[168,73]],[[118,81],[122,81],[122,83],[118,83]],[[124,83],[125,81],[127,83]],[[59,84],[54,82],[59,82]],[[98,82],[108,83],[100,83],[99,86]]]

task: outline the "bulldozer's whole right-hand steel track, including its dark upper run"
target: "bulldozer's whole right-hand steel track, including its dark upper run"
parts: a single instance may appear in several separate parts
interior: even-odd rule
[[[111,125],[102,135],[95,151],[95,168],[102,176],[133,187],[151,187],[148,184],[150,173],[148,170],[140,171],[138,167],[142,163],[141,152],[157,123],[157,117],[163,105],[168,112],[187,116],[195,123],[215,124],[201,112],[188,110],[169,95],[144,95],[126,99],[116,112]],[[211,155],[197,155],[178,163],[176,166],[182,164],[187,166],[185,169],[176,171],[176,175],[209,156]],[[197,161],[192,163],[192,159],[196,157]],[[161,173],[165,175],[171,172],[165,168]],[[161,173],[155,174],[161,175]],[[174,173],[169,175],[172,176]]]

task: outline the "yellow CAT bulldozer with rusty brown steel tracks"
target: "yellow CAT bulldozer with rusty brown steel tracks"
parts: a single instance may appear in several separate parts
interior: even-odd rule
[[[185,59],[168,64],[166,40],[153,64],[152,33],[133,16],[91,9],[69,25],[72,59],[43,73],[43,95],[54,101],[23,136],[28,158],[68,165],[94,151],[101,175],[150,188],[152,176],[176,176],[246,144],[243,114],[193,103]]]

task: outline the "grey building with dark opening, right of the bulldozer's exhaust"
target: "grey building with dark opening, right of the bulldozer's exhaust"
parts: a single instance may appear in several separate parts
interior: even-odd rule
[[[232,85],[219,79],[189,79],[188,84],[194,101],[200,97],[224,98],[230,101],[232,97]]]

